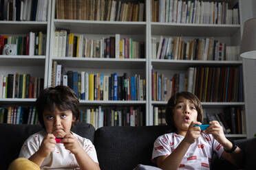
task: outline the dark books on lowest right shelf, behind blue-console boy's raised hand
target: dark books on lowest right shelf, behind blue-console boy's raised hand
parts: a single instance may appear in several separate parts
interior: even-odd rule
[[[219,121],[225,134],[246,134],[246,117],[243,108],[225,108],[223,112],[204,112],[206,122]],[[204,120],[205,121],[205,120]]]

